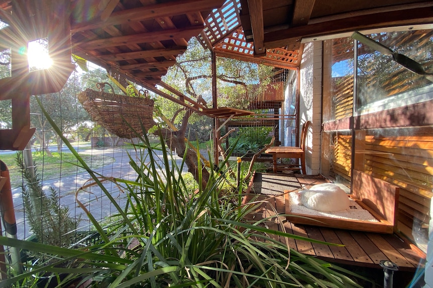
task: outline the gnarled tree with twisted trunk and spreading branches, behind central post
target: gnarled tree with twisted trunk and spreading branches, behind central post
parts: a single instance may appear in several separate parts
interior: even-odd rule
[[[163,81],[196,102],[209,108],[212,107],[210,56],[210,52],[204,50],[195,38],[191,39],[187,51],[177,57],[175,66],[168,70]],[[264,91],[270,83],[272,74],[272,67],[235,59],[218,58],[217,75],[215,76],[218,87],[218,106],[245,109],[251,100]],[[170,94],[169,91],[164,92]],[[185,162],[188,171],[198,182],[197,155],[185,144],[184,140],[188,123],[195,123],[198,115],[162,97],[157,99],[156,105],[161,111],[164,111],[164,115],[171,119],[177,128],[176,131],[173,131],[170,127],[162,127],[159,132],[166,136],[167,145],[179,156],[182,157],[187,149]],[[199,184],[203,186],[207,183],[209,172],[204,165],[202,167],[202,182]]]

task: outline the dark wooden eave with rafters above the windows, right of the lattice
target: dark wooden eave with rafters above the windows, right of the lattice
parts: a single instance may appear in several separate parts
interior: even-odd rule
[[[433,22],[433,3],[423,0],[241,0],[241,9],[257,56],[333,34]]]

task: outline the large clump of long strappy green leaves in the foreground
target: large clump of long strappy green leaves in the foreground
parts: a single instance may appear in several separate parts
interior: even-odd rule
[[[185,161],[176,163],[164,136],[160,135],[158,147],[152,147],[146,135],[139,136],[142,144],[133,144],[139,155],[129,159],[137,173],[134,181],[110,179],[125,192],[125,207],[118,205],[101,183],[101,175],[63,139],[117,207],[111,216],[116,220],[101,226],[86,211],[100,234],[99,242],[50,252],[48,245],[31,243],[32,248],[51,253],[58,261],[74,259],[67,269],[69,279],[78,278],[88,287],[361,287],[356,282],[359,276],[350,271],[272,239],[271,234],[309,240],[267,229],[265,221],[278,216],[246,220],[260,202],[242,204],[221,196],[227,160],[220,163],[218,173],[209,170],[205,187],[197,185],[196,191],[190,191],[182,176]],[[4,237],[0,242],[11,244]],[[58,272],[52,266],[32,268]]]

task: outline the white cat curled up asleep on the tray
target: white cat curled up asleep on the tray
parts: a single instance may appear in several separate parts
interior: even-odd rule
[[[350,208],[348,195],[336,184],[317,184],[297,194],[298,204],[313,210],[333,212]]]

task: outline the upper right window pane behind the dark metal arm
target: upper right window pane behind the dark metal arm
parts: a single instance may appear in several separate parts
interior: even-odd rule
[[[433,73],[432,30],[380,33],[368,37],[394,53],[411,58],[423,69],[430,69],[427,72]],[[378,101],[390,103],[397,99],[397,95],[404,94],[406,100],[423,95],[423,88],[432,84],[425,76],[409,71],[395,62],[391,56],[383,55],[361,43],[358,43],[357,73],[357,110],[377,106]]]

